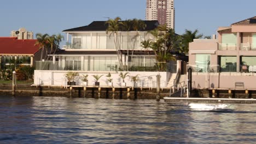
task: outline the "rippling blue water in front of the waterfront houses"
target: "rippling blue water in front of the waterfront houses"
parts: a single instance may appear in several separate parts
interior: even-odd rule
[[[256,105],[1,97],[0,143],[255,143]]]

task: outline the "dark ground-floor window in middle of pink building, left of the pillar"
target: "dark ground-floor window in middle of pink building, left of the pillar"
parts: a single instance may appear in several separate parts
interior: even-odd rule
[[[219,66],[222,72],[236,72],[236,56],[219,56]]]

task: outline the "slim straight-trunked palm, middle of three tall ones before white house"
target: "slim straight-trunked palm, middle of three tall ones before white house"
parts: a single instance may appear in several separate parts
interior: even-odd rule
[[[127,70],[129,70],[129,41],[130,41],[130,37],[129,37],[129,31],[131,31],[132,26],[133,26],[133,21],[132,20],[126,20],[126,21],[122,21],[120,22],[121,25],[121,29],[123,29],[124,31],[127,32]]]

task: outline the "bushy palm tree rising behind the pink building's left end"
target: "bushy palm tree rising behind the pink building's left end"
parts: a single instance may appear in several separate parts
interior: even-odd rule
[[[194,39],[200,39],[203,37],[202,34],[198,34],[199,31],[196,29],[194,32],[185,29],[185,33],[182,35],[183,53],[188,53],[189,43],[193,42]]]

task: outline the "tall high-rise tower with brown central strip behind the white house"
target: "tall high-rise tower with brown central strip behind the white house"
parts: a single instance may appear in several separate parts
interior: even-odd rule
[[[174,29],[174,0],[147,0],[146,20],[158,20],[160,25]]]

